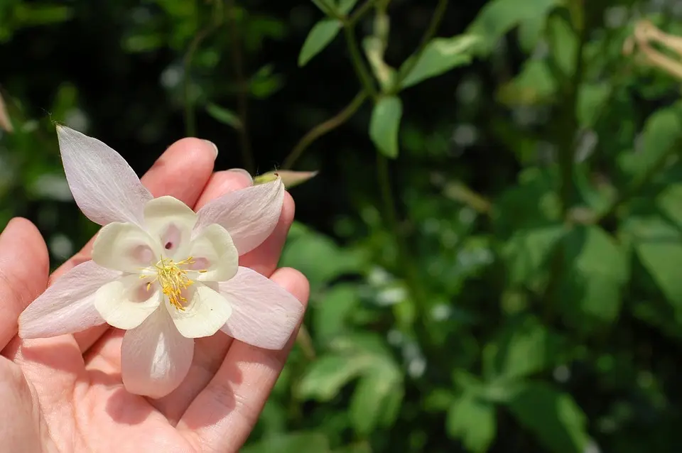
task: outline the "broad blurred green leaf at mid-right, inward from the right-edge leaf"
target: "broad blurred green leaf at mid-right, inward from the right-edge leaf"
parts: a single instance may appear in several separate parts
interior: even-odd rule
[[[565,236],[558,298],[569,322],[591,329],[619,314],[629,278],[627,254],[599,227],[576,227]]]

